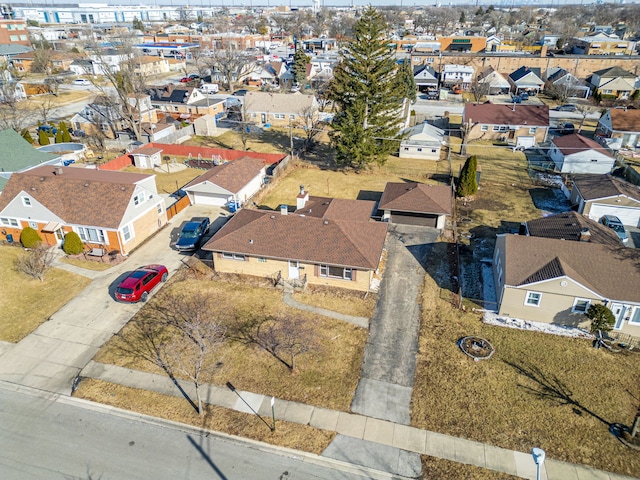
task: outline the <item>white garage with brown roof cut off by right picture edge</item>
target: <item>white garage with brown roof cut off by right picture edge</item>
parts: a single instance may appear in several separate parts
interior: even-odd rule
[[[627,226],[640,227],[640,188],[611,175],[580,175],[573,182],[571,202],[578,212],[598,221],[614,215]]]

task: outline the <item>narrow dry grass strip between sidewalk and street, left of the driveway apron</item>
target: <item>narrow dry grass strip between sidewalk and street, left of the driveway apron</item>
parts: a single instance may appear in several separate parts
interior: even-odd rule
[[[200,416],[183,398],[168,397],[93,379],[84,379],[73,396],[318,455],[335,437],[333,432],[284,421],[277,421],[275,432],[271,432],[255,415],[212,405],[205,405],[205,414]]]

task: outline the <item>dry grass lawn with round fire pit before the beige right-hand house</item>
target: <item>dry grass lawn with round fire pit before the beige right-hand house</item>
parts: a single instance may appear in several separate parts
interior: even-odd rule
[[[412,424],[522,452],[538,446],[556,460],[638,475],[638,453],[609,433],[610,423],[630,425],[637,411],[638,354],[485,325],[442,300],[432,275],[446,267],[432,265],[425,278]],[[489,340],[494,356],[478,363],[465,356],[456,342],[468,335]]]

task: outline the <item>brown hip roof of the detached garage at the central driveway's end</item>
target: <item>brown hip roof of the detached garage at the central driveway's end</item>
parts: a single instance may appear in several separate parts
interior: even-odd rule
[[[389,182],[380,199],[380,210],[451,215],[451,187],[416,182]]]

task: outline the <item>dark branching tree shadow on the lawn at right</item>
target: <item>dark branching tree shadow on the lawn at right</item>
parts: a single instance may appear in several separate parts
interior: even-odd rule
[[[583,413],[591,415],[596,420],[604,423],[608,428],[614,425],[576,400],[569,386],[555,375],[545,374],[540,368],[532,364],[517,364],[507,360],[504,362],[520,375],[534,382],[534,387],[523,384],[518,385],[527,393],[538,397],[543,401],[546,400],[559,405],[569,405],[572,407],[573,413],[576,415],[582,415]]]

